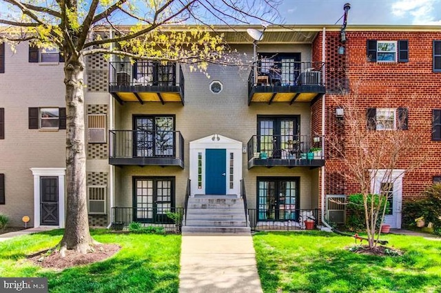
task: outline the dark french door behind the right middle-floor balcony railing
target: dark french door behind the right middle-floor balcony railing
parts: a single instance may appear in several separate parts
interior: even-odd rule
[[[258,117],[258,148],[270,158],[280,158],[298,137],[298,116]]]

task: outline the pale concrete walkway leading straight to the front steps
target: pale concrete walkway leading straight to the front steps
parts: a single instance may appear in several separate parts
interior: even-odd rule
[[[182,236],[180,293],[263,292],[251,234]]]

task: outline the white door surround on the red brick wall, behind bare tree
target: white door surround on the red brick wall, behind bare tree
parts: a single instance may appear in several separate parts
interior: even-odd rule
[[[393,211],[391,215],[384,216],[384,223],[391,225],[391,228],[401,229],[402,216],[402,179],[404,171],[401,169],[369,170],[371,174],[371,192],[380,194],[381,183],[393,183]]]

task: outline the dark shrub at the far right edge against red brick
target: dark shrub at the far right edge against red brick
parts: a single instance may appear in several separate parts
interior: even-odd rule
[[[422,199],[407,201],[403,204],[402,223],[415,226],[415,219],[424,218],[433,223],[433,233],[441,234],[441,183],[435,183],[422,192]]]

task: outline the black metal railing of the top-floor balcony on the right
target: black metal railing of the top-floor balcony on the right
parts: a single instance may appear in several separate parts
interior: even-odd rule
[[[254,70],[252,70],[249,86],[324,85],[322,81],[324,65],[324,62],[259,60],[257,77],[254,79]]]

